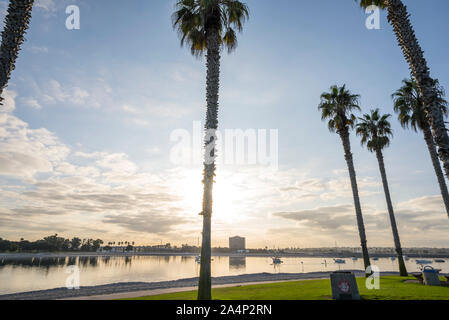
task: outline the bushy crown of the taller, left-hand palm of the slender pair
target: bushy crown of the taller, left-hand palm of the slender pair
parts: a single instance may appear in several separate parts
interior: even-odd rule
[[[360,111],[359,95],[351,94],[346,86],[332,86],[330,92],[321,95],[321,103],[318,109],[321,111],[321,119],[329,120],[328,128],[331,132],[349,131],[355,125],[354,110]]]

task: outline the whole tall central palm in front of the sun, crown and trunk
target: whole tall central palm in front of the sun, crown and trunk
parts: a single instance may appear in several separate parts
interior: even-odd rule
[[[204,161],[203,242],[201,247],[198,299],[211,295],[211,217],[212,189],[215,176],[216,130],[218,129],[218,91],[220,85],[220,51],[232,52],[237,46],[237,31],[242,31],[249,18],[246,4],[238,0],[178,0],[172,16],[181,46],[188,44],[192,55],[206,53],[206,135]]]

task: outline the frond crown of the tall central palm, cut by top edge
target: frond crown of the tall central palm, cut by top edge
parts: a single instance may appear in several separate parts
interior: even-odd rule
[[[172,16],[181,45],[187,43],[194,56],[206,51],[210,29],[218,32],[221,47],[232,52],[237,47],[236,30],[241,32],[248,18],[247,5],[238,0],[179,0]]]

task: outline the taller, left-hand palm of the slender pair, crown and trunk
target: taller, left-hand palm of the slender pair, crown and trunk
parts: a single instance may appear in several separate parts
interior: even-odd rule
[[[351,94],[346,86],[332,86],[330,92],[321,95],[321,103],[318,109],[321,111],[321,119],[328,120],[328,128],[331,132],[336,132],[341,138],[345,152],[346,163],[348,165],[349,177],[351,179],[352,195],[354,197],[355,213],[359,228],[360,242],[362,246],[363,262],[365,270],[370,266],[368,247],[366,244],[365,225],[363,223],[362,208],[360,206],[359,190],[354,169],[354,162],[349,140],[349,131],[354,128],[356,118],[352,112],[359,111],[359,95]]]

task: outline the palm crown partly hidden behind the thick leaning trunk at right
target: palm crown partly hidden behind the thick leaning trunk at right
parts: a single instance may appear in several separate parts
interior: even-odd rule
[[[411,127],[413,130],[424,130],[430,127],[427,114],[424,110],[424,101],[419,92],[416,81],[405,79],[403,86],[396,91],[392,98],[394,100],[394,111],[398,113],[399,122],[403,128]],[[447,116],[447,101],[444,99],[444,89],[440,87],[437,79],[434,80],[434,86],[438,93],[438,104],[444,116]]]

